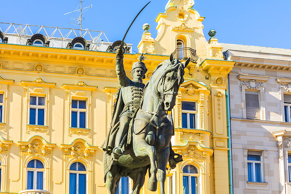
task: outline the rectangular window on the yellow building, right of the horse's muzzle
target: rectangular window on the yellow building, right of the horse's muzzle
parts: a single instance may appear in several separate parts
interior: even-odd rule
[[[196,128],[196,102],[182,101],[182,127]]]

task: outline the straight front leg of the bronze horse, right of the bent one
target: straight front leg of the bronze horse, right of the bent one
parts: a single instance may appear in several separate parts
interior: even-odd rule
[[[166,166],[170,155],[170,148],[166,147],[157,155],[158,180],[160,184],[160,194],[165,194]]]

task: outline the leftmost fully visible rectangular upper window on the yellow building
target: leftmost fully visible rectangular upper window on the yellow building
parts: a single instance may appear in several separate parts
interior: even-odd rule
[[[30,96],[29,124],[30,125],[45,125],[45,97]]]

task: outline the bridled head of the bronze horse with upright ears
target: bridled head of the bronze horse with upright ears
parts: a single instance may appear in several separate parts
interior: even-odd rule
[[[162,99],[162,110],[171,111],[175,106],[176,96],[180,85],[184,82],[184,68],[189,64],[190,58],[181,63],[178,59],[174,59],[174,54],[170,56],[170,60],[164,61],[160,64],[160,75],[157,86],[157,91]],[[154,72],[155,73],[155,72]]]

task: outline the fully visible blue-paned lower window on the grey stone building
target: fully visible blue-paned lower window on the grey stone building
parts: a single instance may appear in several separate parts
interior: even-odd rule
[[[263,182],[262,152],[248,150],[248,178],[249,182]]]

